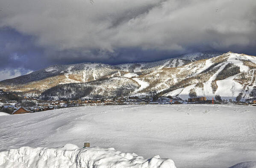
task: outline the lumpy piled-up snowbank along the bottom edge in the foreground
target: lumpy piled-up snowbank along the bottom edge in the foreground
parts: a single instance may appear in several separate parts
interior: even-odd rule
[[[0,168],[176,168],[173,160],[115,151],[114,148],[21,147],[0,152]]]

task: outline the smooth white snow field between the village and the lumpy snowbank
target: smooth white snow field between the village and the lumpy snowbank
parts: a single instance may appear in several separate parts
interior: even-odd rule
[[[84,142],[170,158],[177,168],[228,168],[256,160],[256,107],[87,106],[0,116],[0,151],[70,143],[82,148]]]

